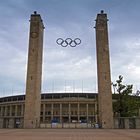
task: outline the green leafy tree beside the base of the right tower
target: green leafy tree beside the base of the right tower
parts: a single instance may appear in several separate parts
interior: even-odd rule
[[[124,85],[123,76],[119,75],[116,83],[112,83],[116,101],[113,102],[114,114],[118,117],[133,117],[138,115],[140,102],[132,94],[133,85]]]

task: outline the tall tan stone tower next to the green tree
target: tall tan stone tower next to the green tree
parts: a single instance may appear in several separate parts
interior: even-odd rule
[[[102,128],[113,128],[113,109],[107,14],[101,11],[96,19],[96,51],[98,72],[98,112]]]

